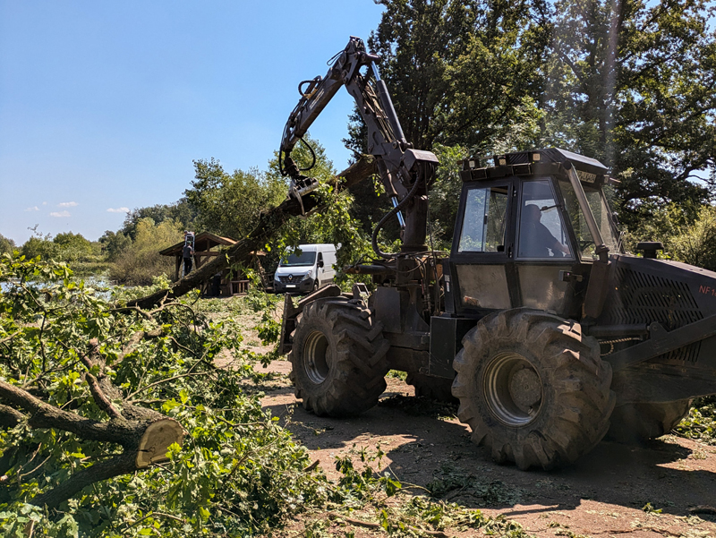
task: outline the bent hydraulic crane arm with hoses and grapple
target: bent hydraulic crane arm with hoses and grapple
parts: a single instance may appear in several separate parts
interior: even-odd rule
[[[318,182],[302,174],[305,170],[296,166],[291,151],[341,86],[345,86],[368,127],[368,152],[376,158],[380,180],[393,202],[393,209],[376,226],[373,248],[384,255],[377,249],[376,237],[387,219],[397,214],[404,227],[402,251],[422,252],[427,249],[424,245],[427,190],[438,158],[430,151],[413,149],[405,140],[386,84],[380,79],[378,62],[379,56],[368,53],[362,39],[352,37],[325,77],[299,84],[301,99],[288,117],[281,140],[281,173],[290,176],[289,195],[301,201],[303,208],[301,197],[315,189]],[[405,210],[405,220],[401,210]]]

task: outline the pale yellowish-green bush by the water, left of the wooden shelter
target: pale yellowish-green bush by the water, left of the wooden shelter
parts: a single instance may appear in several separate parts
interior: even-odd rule
[[[159,251],[181,240],[180,226],[175,221],[155,225],[151,218],[142,218],[137,223],[135,241],[119,254],[109,269],[109,278],[120,284],[149,286],[154,277],[173,275],[175,259],[161,256]]]

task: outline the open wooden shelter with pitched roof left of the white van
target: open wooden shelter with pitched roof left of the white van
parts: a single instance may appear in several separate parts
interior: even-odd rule
[[[194,268],[199,269],[202,265],[211,260],[214,256],[218,256],[222,246],[230,247],[236,242],[230,237],[221,237],[220,235],[209,234],[209,232],[201,232],[194,237]],[[174,256],[175,264],[175,280],[179,280],[183,263],[183,247],[184,242],[176,243],[163,251],[159,251],[162,256]],[[259,256],[265,256],[265,252],[251,252],[253,264],[259,271],[262,284],[266,285],[266,277],[261,267]],[[211,290],[211,280],[219,275],[201,283],[201,292],[209,295]],[[250,282],[245,275],[232,276],[231,269],[223,269],[220,274],[220,292],[222,296],[230,297],[232,295],[243,295],[249,291]]]

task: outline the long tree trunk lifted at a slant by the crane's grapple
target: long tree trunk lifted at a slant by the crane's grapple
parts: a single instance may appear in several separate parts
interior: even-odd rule
[[[359,184],[376,172],[373,158],[363,156],[354,165],[337,175],[331,184],[342,191]],[[311,208],[311,211],[317,211],[322,208],[322,206],[316,205],[314,193],[306,195],[303,203],[306,208]],[[135,299],[127,304],[149,309],[166,299],[180,297],[189,293],[192,289],[199,287],[209,278],[216,275],[217,272],[228,268],[232,263],[243,262],[248,264],[251,259],[251,252],[262,249],[267,241],[277,234],[281,226],[286,224],[289,218],[298,215],[301,215],[301,206],[298,201],[293,198],[286,199],[277,208],[262,213],[259,216],[257,226],[251,231],[251,234],[226,250],[226,255],[214,257],[206,265],[202,265],[186,277],[177,280],[169,289],[158,291],[141,299]]]

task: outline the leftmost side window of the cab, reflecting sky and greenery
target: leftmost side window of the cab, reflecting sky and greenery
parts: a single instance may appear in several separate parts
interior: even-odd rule
[[[470,189],[465,199],[458,252],[504,252],[507,185]]]

